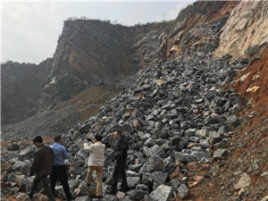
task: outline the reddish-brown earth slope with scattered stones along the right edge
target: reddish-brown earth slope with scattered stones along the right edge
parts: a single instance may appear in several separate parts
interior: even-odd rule
[[[247,100],[239,113],[244,122],[231,133],[228,159],[213,163],[209,179],[191,189],[195,200],[267,200],[267,56],[266,46],[262,57],[235,79],[233,88]]]

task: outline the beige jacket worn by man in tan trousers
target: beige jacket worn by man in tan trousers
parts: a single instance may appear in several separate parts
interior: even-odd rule
[[[85,143],[84,149],[89,152],[88,166],[104,166],[105,144],[96,142],[88,146],[88,143]]]

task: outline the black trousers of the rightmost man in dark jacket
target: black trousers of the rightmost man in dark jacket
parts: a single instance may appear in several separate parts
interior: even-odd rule
[[[126,175],[126,159],[121,160],[119,162],[116,162],[114,165],[113,170],[113,185],[112,185],[112,191],[116,191],[117,189],[117,181],[119,175],[121,175],[121,189],[125,190],[129,188],[128,182],[127,182],[127,175]]]

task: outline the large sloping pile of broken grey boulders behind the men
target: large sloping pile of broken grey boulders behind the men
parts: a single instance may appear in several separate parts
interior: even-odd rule
[[[199,166],[228,156],[229,131],[242,118],[235,114],[245,100],[234,93],[232,76],[247,63],[214,58],[209,53],[159,60],[138,72],[138,80],[116,96],[100,112],[63,135],[71,160],[70,187],[77,200],[88,200],[88,154],[85,138],[95,133],[104,137],[105,152],[103,200],[172,200],[188,197],[191,172]],[[130,191],[109,195],[113,172],[113,132],[121,130],[130,144],[127,180]],[[3,195],[19,195],[29,190],[26,178],[34,153],[33,146],[22,144],[23,151],[2,150]],[[205,175],[203,175],[205,176]],[[203,177],[204,178],[204,177]],[[95,183],[94,183],[95,184]],[[59,192],[63,189],[58,186]],[[21,195],[21,194],[20,194]],[[64,194],[63,194],[64,195]]]

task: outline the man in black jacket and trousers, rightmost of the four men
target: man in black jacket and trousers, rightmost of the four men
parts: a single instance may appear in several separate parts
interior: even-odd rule
[[[111,194],[116,194],[117,192],[117,181],[119,175],[121,175],[121,191],[127,192],[129,190],[129,185],[127,182],[126,175],[126,162],[128,157],[128,149],[129,145],[127,141],[121,137],[121,132],[116,131],[113,134],[113,138],[116,142],[114,148],[114,157],[115,157],[115,165],[113,170],[113,185]]]

